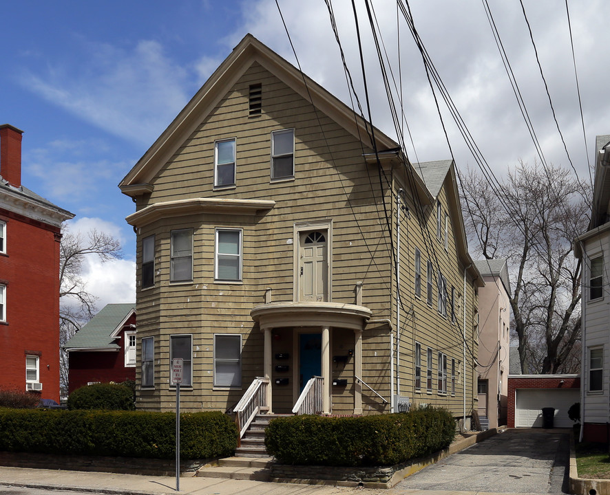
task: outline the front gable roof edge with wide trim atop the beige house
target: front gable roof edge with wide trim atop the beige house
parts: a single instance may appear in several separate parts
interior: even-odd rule
[[[129,196],[151,192],[153,187],[149,183],[158,170],[176,153],[185,138],[196,130],[253,63],[262,65],[302,98],[311,102],[316,109],[326,113],[329,118],[357,137],[365,146],[372,148],[369,141],[370,126],[365,120],[355,115],[350,107],[302,74],[299,69],[254,36],[246,34],[132,170],[120,181],[118,185],[120,190]],[[378,151],[399,148],[395,141],[377,129],[375,129],[375,143]]]

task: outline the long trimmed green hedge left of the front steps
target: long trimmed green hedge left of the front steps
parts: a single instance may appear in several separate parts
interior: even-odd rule
[[[207,459],[235,451],[235,423],[222,412],[180,415],[180,456]],[[0,450],[171,459],[172,412],[0,408]]]

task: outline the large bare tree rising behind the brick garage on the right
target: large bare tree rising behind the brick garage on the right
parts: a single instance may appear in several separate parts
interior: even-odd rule
[[[574,371],[581,265],[572,248],[587,228],[590,190],[565,168],[521,160],[499,187],[473,170],[461,183],[473,254],[507,259],[522,373]]]

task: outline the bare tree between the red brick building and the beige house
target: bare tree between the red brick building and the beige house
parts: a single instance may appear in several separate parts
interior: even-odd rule
[[[65,344],[96,313],[96,297],[87,291],[83,263],[96,256],[103,263],[122,259],[120,243],[112,235],[92,229],[87,234],[63,228],[59,255],[59,343]],[[60,351],[60,384],[67,391],[67,355]]]

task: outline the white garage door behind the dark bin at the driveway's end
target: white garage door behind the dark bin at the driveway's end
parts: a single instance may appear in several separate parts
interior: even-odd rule
[[[580,391],[577,388],[522,388],[515,393],[517,428],[542,428],[543,407],[555,408],[555,428],[571,428],[574,425],[574,421],[567,416],[567,410],[574,402],[580,401]]]

